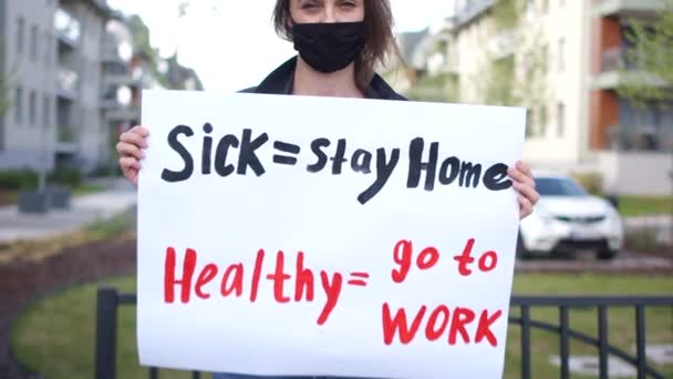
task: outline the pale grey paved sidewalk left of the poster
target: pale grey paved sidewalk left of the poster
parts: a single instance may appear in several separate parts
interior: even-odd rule
[[[45,215],[20,214],[15,205],[0,207],[0,244],[75,232],[136,204],[136,192],[128,181],[118,178],[104,184],[107,190],[103,192],[73,196],[70,209],[51,209]]]

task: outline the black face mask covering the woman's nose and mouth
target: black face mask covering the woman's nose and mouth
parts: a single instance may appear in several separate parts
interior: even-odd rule
[[[315,71],[343,70],[364,48],[364,22],[294,23],[294,50]]]

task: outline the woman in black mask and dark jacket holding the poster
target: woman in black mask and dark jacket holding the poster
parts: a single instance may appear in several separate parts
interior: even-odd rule
[[[374,73],[374,66],[396,51],[389,0],[277,0],[278,34],[294,43],[298,57],[287,61],[251,93],[406,100]],[[117,144],[124,175],[137,184],[148,130],[135,126]],[[509,175],[519,193],[520,217],[532,212],[539,196],[524,163]],[[216,375],[216,379],[255,378]]]

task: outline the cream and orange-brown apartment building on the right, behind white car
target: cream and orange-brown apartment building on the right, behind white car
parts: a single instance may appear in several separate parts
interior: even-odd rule
[[[636,109],[617,92],[622,70],[638,70],[624,63],[627,20],[652,18],[662,1],[527,0],[518,13],[497,2],[456,0],[442,32],[458,101],[527,107],[534,167],[598,172],[612,193],[670,194],[671,104]]]

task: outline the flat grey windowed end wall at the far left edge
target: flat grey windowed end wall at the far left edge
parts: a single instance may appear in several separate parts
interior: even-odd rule
[[[55,0],[4,2],[4,70],[11,72],[12,107],[3,117],[0,170],[51,170],[55,119]],[[19,20],[23,20],[22,31]],[[22,33],[21,47],[19,34]],[[20,93],[17,92],[20,89]],[[17,99],[20,95],[20,99]],[[34,101],[33,101],[34,100]],[[44,107],[44,105],[46,107]]]

